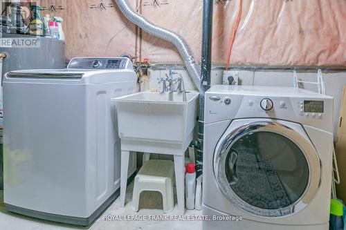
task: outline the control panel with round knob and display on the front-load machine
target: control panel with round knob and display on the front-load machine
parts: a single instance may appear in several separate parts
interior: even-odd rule
[[[216,89],[216,90],[213,90]],[[235,90],[237,89],[237,90]],[[277,88],[221,88],[206,93],[206,124],[228,119],[272,118],[329,130],[333,122],[333,98],[306,90]],[[283,92],[280,92],[282,90]],[[286,92],[284,92],[286,90]]]

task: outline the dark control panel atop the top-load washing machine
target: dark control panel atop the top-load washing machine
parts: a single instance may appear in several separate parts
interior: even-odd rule
[[[127,68],[129,61],[130,60],[127,59],[127,57],[76,57],[71,59],[67,68],[80,70],[125,69]]]

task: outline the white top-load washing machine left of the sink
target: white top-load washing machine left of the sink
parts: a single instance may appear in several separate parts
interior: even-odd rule
[[[111,97],[136,91],[126,57],[74,58],[63,70],[3,79],[4,202],[9,211],[89,225],[119,194]],[[136,170],[133,157],[129,175]]]

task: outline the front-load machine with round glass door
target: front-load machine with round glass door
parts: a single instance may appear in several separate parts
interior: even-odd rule
[[[213,86],[204,132],[203,230],[328,229],[332,97]]]

